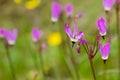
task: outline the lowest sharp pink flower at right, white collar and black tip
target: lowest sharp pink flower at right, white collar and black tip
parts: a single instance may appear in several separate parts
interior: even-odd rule
[[[100,44],[100,52],[102,55],[102,59],[104,60],[104,63],[105,63],[110,53],[110,43],[106,43],[104,46]]]

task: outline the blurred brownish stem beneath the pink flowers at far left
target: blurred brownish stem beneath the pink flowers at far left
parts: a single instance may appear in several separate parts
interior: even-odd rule
[[[8,45],[6,40],[4,42],[4,45],[5,45],[5,49],[6,49],[6,55],[7,55],[8,63],[9,63],[10,69],[11,69],[11,74],[12,74],[12,78],[13,78],[12,80],[16,80],[15,70],[14,70],[14,67],[13,67],[13,64],[12,64],[12,59],[11,59],[10,53],[9,53],[9,45]]]

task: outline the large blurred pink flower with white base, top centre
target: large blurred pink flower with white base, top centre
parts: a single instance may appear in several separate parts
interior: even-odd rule
[[[52,17],[51,17],[51,20],[53,22],[57,22],[58,21],[58,18],[62,12],[62,7],[61,5],[57,2],[57,1],[54,1],[51,5],[51,11],[52,11]]]

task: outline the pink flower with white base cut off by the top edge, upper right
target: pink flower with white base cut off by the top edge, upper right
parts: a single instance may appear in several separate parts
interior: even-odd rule
[[[110,11],[114,5],[114,0],[102,0],[103,7],[106,11]]]

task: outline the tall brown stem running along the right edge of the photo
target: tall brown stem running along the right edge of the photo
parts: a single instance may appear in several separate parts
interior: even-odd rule
[[[120,57],[120,18],[119,18],[119,3],[116,0],[116,19],[117,19],[117,38],[118,38],[118,56]],[[120,71],[120,58],[118,58],[118,67]],[[119,73],[120,75],[120,73]],[[120,77],[119,77],[120,79]]]

